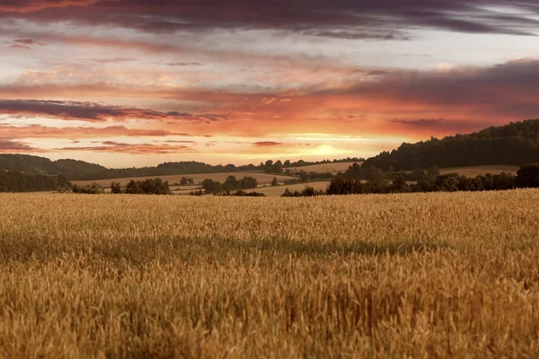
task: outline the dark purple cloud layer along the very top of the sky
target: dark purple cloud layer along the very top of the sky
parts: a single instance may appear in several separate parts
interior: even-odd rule
[[[496,8],[499,10],[495,10]],[[511,14],[503,13],[510,7]],[[518,11],[518,12],[515,12]],[[519,14],[520,13],[520,14]],[[274,29],[341,39],[408,39],[410,29],[536,34],[539,4],[524,0],[7,1],[0,16],[148,32]]]

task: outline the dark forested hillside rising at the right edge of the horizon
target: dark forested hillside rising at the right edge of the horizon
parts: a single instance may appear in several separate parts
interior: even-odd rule
[[[363,163],[364,168],[411,171],[429,166],[439,168],[515,165],[539,162],[539,119],[488,127],[469,135],[431,138],[417,144],[402,144]]]

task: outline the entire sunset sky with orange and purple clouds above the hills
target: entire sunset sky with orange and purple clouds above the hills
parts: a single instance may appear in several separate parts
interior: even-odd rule
[[[536,0],[0,0],[0,153],[313,161],[527,118]]]

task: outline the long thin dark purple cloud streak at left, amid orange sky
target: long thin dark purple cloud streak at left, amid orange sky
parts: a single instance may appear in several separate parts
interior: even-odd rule
[[[173,120],[175,122],[209,123],[225,119],[215,114],[193,115],[185,112],[160,112],[153,109],[138,109],[109,106],[81,101],[43,101],[0,99],[0,113],[22,117],[52,117],[66,120],[105,122],[127,119]]]

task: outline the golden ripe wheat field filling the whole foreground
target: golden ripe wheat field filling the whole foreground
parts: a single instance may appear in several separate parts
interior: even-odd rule
[[[0,206],[0,357],[539,356],[538,190]]]

